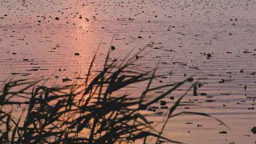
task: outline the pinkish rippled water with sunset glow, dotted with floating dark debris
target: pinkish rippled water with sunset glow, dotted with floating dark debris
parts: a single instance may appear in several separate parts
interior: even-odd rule
[[[157,73],[167,78],[156,80],[154,85],[194,76],[194,81],[203,84],[198,88],[199,96],[190,91],[183,102],[196,105],[178,111],[206,112],[231,128],[207,117],[181,116],[168,122],[166,137],[190,144],[253,144],[256,137],[250,129],[256,125],[256,112],[248,108],[254,107],[256,95],[255,8],[254,0],[3,0],[0,84],[11,76],[50,78],[48,85],[63,85],[66,76],[72,80],[85,77],[98,47],[94,70],[101,68],[110,45],[116,47],[110,57],[118,62],[132,49],[136,53],[147,46],[145,55],[132,67],[149,71],[159,63]],[[221,79],[225,82],[219,83]],[[170,96],[177,99],[191,84]],[[131,95],[139,95],[144,88],[145,84],[137,86]],[[201,92],[212,98],[200,96]],[[216,101],[205,102],[207,99]],[[174,103],[165,100],[168,106]],[[163,116],[150,119],[161,121]],[[223,130],[228,134],[219,134]]]

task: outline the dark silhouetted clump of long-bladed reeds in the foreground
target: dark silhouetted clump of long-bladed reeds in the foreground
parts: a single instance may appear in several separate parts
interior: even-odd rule
[[[183,144],[162,136],[168,119],[182,113],[210,117],[204,113],[193,112],[173,114],[184,94],[168,110],[159,133],[147,121],[146,116],[140,114],[138,106],[142,103],[145,106],[154,104],[187,80],[151,88],[152,81],[158,77],[155,76],[155,69],[150,72],[128,70],[128,66],[136,61],[135,56],[120,66],[116,62],[108,64],[109,54],[110,52],[102,71],[92,77],[91,68],[95,56],[93,57],[83,85],[47,88],[36,86],[39,81],[29,80],[4,84],[0,93],[0,143],[122,144],[142,139],[142,143],[146,144],[146,138],[152,136],[155,137],[155,144],[160,139]],[[139,98],[131,98],[127,94],[112,96],[114,92],[141,81],[148,81],[148,84]],[[169,90],[155,96],[153,100],[146,100],[148,92],[162,88]],[[12,89],[16,91],[12,92]],[[31,91],[27,92],[28,90]],[[27,100],[21,102],[15,99]],[[13,116],[13,111],[5,110],[13,105],[27,106],[27,109],[23,109],[17,118]]]

